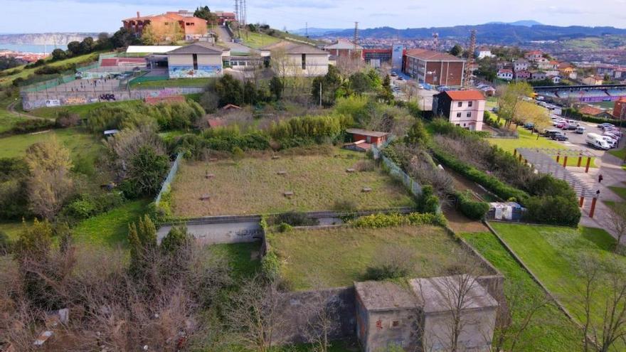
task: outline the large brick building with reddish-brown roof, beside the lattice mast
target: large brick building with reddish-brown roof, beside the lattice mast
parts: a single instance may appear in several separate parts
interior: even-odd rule
[[[463,85],[465,59],[439,51],[410,49],[406,51],[403,72],[429,85]]]

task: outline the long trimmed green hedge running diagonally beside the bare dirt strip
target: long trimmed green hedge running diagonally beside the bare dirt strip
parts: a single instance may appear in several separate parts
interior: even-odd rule
[[[528,193],[521,191],[518,188],[511,187],[500,181],[498,178],[488,175],[483,171],[476,169],[474,166],[460,161],[455,156],[440,150],[435,145],[431,145],[430,150],[433,151],[433,155],[435,155],[435,158],[437,158],[441,164],[456,171],[458,174],[469,178],[471,181],[479,183],[504,200],[514,199],[515,201],[524,203],[526,198],[529,197]]]

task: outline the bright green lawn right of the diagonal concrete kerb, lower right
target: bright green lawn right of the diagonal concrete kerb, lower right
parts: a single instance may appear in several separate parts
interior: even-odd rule
[[[604,267],[611,260],[626,265],[626,257],[612,252],[615,239],[598,228],[492,223],[504,241],[575,316],[583,316],[583,281],[580,258],[595,257]],[[598,290],[598,295],[606,294]],[[596,302],[603,301],[596,297]],[[593,306],[593,319],[601,321],[602,309]]]

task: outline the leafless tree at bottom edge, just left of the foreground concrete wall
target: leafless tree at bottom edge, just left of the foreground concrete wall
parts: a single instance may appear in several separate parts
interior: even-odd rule
[[[270,351],[281,328],[277,282],[256,276],[243,283],[228,306],[228,320],[237,339],[253,351]]]

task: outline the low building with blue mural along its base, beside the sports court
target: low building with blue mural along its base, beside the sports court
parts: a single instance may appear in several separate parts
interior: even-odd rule
[[[230,50],[210,43],[198,42],[167,53],[170,79],[211,78],[223,73],[223,56]]]

